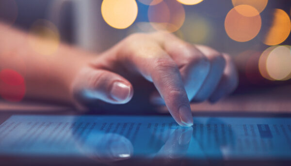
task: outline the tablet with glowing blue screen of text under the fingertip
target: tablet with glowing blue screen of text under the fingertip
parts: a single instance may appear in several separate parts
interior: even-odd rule
[[[290,165],[291,116],[9,115],[0,165]],[[3,164],[3,165],[2,165]]]

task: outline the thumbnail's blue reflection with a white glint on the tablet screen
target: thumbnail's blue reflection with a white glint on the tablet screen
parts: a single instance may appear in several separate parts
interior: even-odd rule
[[[110,145],[111,154],[115,159],[126,159],[131,156],[130,147],[123,141],[116,141]]]

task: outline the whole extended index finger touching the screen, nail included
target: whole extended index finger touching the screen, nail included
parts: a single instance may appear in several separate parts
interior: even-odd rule
[[[154,83],[179,125],[193,125],[189,99],[178,66],[158,43],[138,45],[120,55],[124,55],[123,60],[131,62],[141,75]]]

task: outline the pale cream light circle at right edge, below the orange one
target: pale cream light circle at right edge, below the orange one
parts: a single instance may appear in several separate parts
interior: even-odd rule
[[[266,60],[268,74],[275,80],[286,80],[291,74],[290,46],[281,45],[275,47]]]

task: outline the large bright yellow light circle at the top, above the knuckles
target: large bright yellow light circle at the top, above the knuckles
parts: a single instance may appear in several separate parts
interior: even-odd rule
[[[101,13],[105,22],[116,29],[128,28],[136,19],[135,0],[103,0]]]

